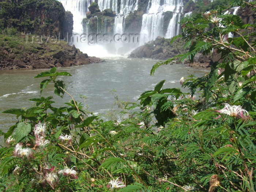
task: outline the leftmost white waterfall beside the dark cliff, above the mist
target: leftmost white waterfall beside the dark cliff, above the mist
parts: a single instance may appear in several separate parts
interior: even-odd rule
[[[73,14],[73,33],[83,33],[82,20],[86,17],[86,12],[89,11],[92,0],[59,0],[65,11],[70,11]]]

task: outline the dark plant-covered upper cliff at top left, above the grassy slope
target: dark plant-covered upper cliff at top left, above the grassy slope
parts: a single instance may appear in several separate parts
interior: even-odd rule
[[[0,2],[0,30],[14,27],[21,32],[42,34],[48,30],[57,34],[63,30],[64,16],[65,10],[56,0]]]

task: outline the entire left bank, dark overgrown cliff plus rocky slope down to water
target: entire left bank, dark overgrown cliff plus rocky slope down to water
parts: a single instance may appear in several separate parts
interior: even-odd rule
[[[0,69],[70,67],[103,61],[60,40],[66,32],[72,33],[73,15],[65,12],[59,1],[0,0],[0,18]]]

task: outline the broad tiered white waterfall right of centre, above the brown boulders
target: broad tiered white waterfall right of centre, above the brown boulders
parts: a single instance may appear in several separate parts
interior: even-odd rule
[[[167,28],[166,34],[163,31],[164,12],[172,11],[173,17]],[[150,0],[147,13],[142,17],[142,28],[140,31],[140,45],[154,40],[157,36],[173,37],[179,33],[178,23],[182,12],[182,0]]]

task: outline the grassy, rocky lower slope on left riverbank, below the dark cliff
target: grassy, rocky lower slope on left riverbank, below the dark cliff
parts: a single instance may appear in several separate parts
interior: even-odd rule
[[[26,36],[0,35],[0,69],[71,67],[103,60],[89,57],[65,41],[27,42]]]

